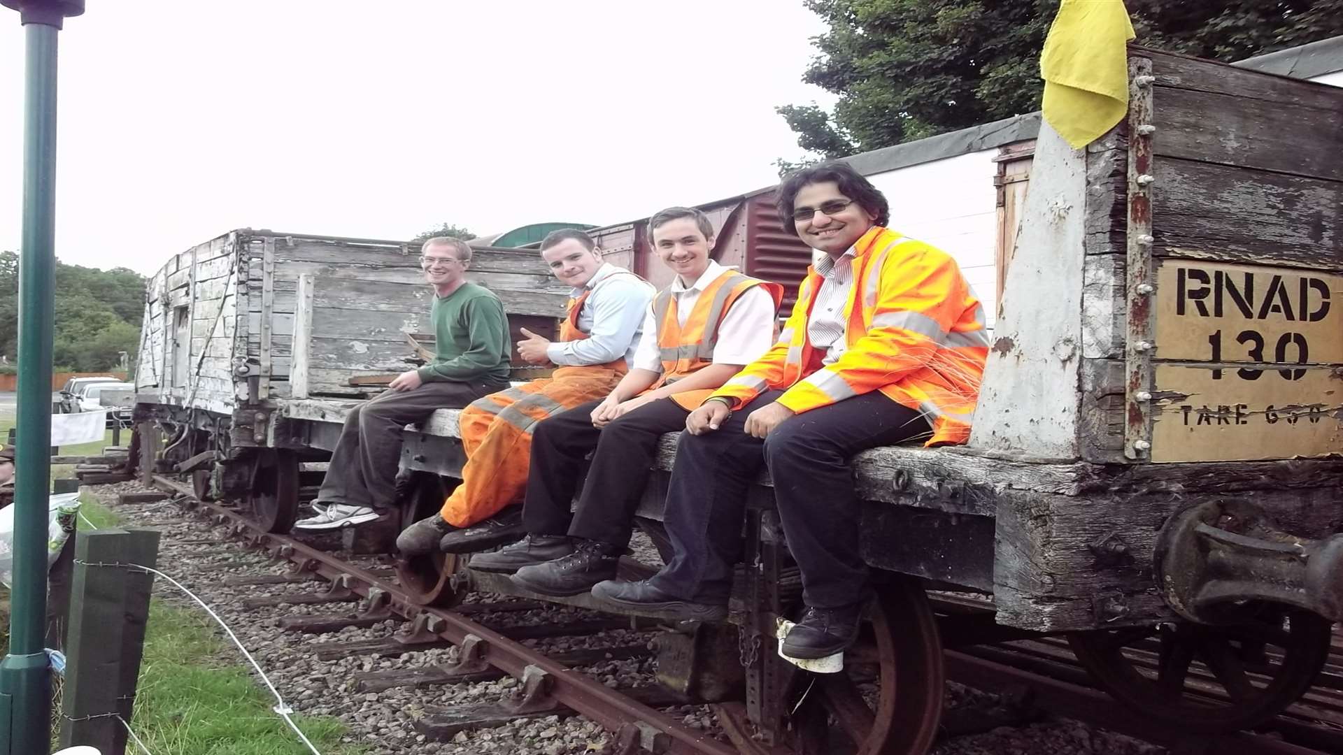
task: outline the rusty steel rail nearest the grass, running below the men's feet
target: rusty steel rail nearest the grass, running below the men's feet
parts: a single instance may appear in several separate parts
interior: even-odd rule
[[[153,481],[161,489],[181,493],[196,500],[189,485],[160,474],[154,474]],[[454,645],[461,646],[467,635],[478,637],[485,643],[482,660],[508,674],[522,678],[528,666],[545,672],[551,680],[548,692],[552,697],[612,732],[619,731],[623,725],[634,724],[639,727],[639,724],[645,724],[639,727],[639,735],[642,746],[646,750],[673,754],[736,755],[735,748],[713,739],[713,736],[692,729],[670,716],[642,703],[637,703],[620,692],[557,664],[461,614],[445,609],[418,606],[412,602],[410,592],[400,586],[385,582],[357,566],[342,562],[325,551],[320,551],[285,535],[263,532],[242,515],[218,504],[197,500],[197,505],[215,513],[216,517],[224,517],[224,520],[231,521],[238,532],[250,531],[250,539],[254,544],[267,547],[271,553],[299,564],[301,568],[321,574],[332,579],[333,583],[338,579],[352,580],[352,584],[344,586],[364,598],[368,598],[371,590],[384,591],[391,598],[388,607],[408,621],[415,621],[418,617],[439,619],[442,623],[428,627],[428,630]],[[665,735],[665,738],[659,738],[658,734]]]

